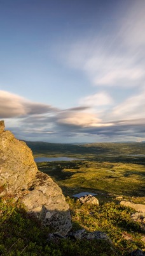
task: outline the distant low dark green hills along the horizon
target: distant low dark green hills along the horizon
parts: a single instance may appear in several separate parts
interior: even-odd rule
[[[145,154],[144,143],[86,143],[86,144],[63,144],[48,143],[43,141],[25,141],[34,154],[57,155],[58,156],[78,156],[78,157],[102,157],[124,156]]]

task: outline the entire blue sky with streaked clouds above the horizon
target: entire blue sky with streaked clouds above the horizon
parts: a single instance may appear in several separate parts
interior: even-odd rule
[[[0,120],[20,140],[145,140],[144,0],[0,0]]]

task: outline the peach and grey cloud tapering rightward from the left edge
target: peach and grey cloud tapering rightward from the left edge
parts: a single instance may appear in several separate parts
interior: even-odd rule
[[[22,117],[25,115],[36,115],[56,111],[50,105],[31,102],[19,95],[0,91],[0,117]]]

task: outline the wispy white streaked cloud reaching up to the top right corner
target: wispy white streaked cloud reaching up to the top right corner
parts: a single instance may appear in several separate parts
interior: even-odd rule
[[[95,86],[144,86],[145,1],[132,4],[115,24],[111,33],[100,36],[94,31],[69,42],[66,63],[82,70]],[[106,31],[105,31],[106,32]]]

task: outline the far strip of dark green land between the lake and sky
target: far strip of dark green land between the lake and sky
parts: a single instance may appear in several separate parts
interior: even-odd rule
[[[35,157],[74,157],[88,161],[145,164],[145,143],[91,143],[85,145],[25,141]],[[138,156],[137,156],[138,155]]]

